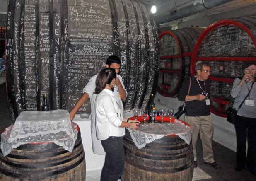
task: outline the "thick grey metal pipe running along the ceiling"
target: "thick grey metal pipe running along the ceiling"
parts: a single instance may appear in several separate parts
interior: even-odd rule
[[[163,14],[157,15],[153,17],[153,19],[156,24],[171,22],[182,17],[187,17],[198,12],[209,10],[230,1],[232,0],[191,0],[183,5],[174,7]]]

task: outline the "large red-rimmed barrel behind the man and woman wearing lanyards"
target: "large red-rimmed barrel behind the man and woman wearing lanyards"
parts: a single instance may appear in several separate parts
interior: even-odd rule
[[[210,111],[226,117],[234,99],[230,96],[235,77],[242,77],[242,65],[256,61],[256,16],[222,20],[200,34],[191,57],[191,75],[199,60],[211,67]]]

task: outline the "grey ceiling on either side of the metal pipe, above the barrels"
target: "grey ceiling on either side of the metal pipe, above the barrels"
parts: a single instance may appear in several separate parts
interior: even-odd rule
[[[0,14],[6,14],[7,1],[0,0]],[[148,6],[150,9],[151,5],[157,6],[157,13],[152,14],[154,17],[161,16],[161,14],[175,11],[178,7],[186,5],[188,2],[195,0],[138,0]],[[244,17],[251,14],[256,14],[256,0],[232,0],[224,5],[208,9],[204,12],[199,12],[190,16],[182,17],[171,22],[165,22],[161,26],[200,26],[205,27],[220,19],[229,19],[234,17]],[[1,22],[0,22],[1,23]],[[5,23],[5,22],[4,22]]]

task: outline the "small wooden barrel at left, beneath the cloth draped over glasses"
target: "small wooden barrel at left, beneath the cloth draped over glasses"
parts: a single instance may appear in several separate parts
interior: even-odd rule
[[[20,145],[0,152],[0,181],[85,181],[85,153],[80,131],[72,152],[53,142]]]

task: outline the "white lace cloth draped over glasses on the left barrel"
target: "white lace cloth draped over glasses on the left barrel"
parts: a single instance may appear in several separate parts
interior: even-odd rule
[[[77,124],[70,121],[67,110],[24,111],[1,134],[1,150],[6,156],[22,144],[54,142],[72,152],[77,133]]]

